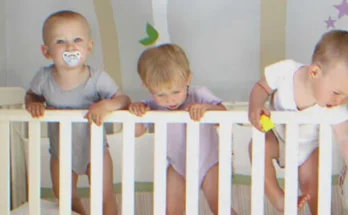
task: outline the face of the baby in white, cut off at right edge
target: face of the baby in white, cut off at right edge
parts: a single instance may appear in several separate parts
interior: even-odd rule
[[[322,107],[333,107],[348,102],[348,67],[337,64],[324,71],[324,75],[315,80],[314,97]]]

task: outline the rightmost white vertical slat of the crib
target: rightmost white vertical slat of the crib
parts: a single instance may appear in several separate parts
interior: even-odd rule
[[[328,124],[320,125],[319,141],[319,215],[331,214],[332,130]]]

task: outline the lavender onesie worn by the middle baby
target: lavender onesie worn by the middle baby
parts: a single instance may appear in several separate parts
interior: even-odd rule
[[[189,95],[180,110],[192,103],[208,103],[219,105],[217,98],[205,87],[191,88]],[[168,110],[156,104],[153,99],[144,101],[151,110]],[[186,176],[186,124],[168,123],[167,126],[167,159],[173,168],[184,178]],[[219,161],[219,136],[215,125],[201,123],[199,136],[199,182],[200,185],[209,169]]]

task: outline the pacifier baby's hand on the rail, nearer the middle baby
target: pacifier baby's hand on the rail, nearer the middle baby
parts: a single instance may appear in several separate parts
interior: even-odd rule
[[[107,101],[102,100],[97,103],[92,104],[88,108],[88,113],[84,116],[85,119],[88,119],[88,122],[92,124],[94,122],[96,125],[100,126],[106,115],[109,114],[110,112],[106,108],[107,106]]]

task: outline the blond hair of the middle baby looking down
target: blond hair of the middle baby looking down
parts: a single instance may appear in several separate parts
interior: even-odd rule
[[[190,73],[190,63],[184,50],[175,44],[148,48],[138,60],[138,74],[150,89],[185,83]]]

